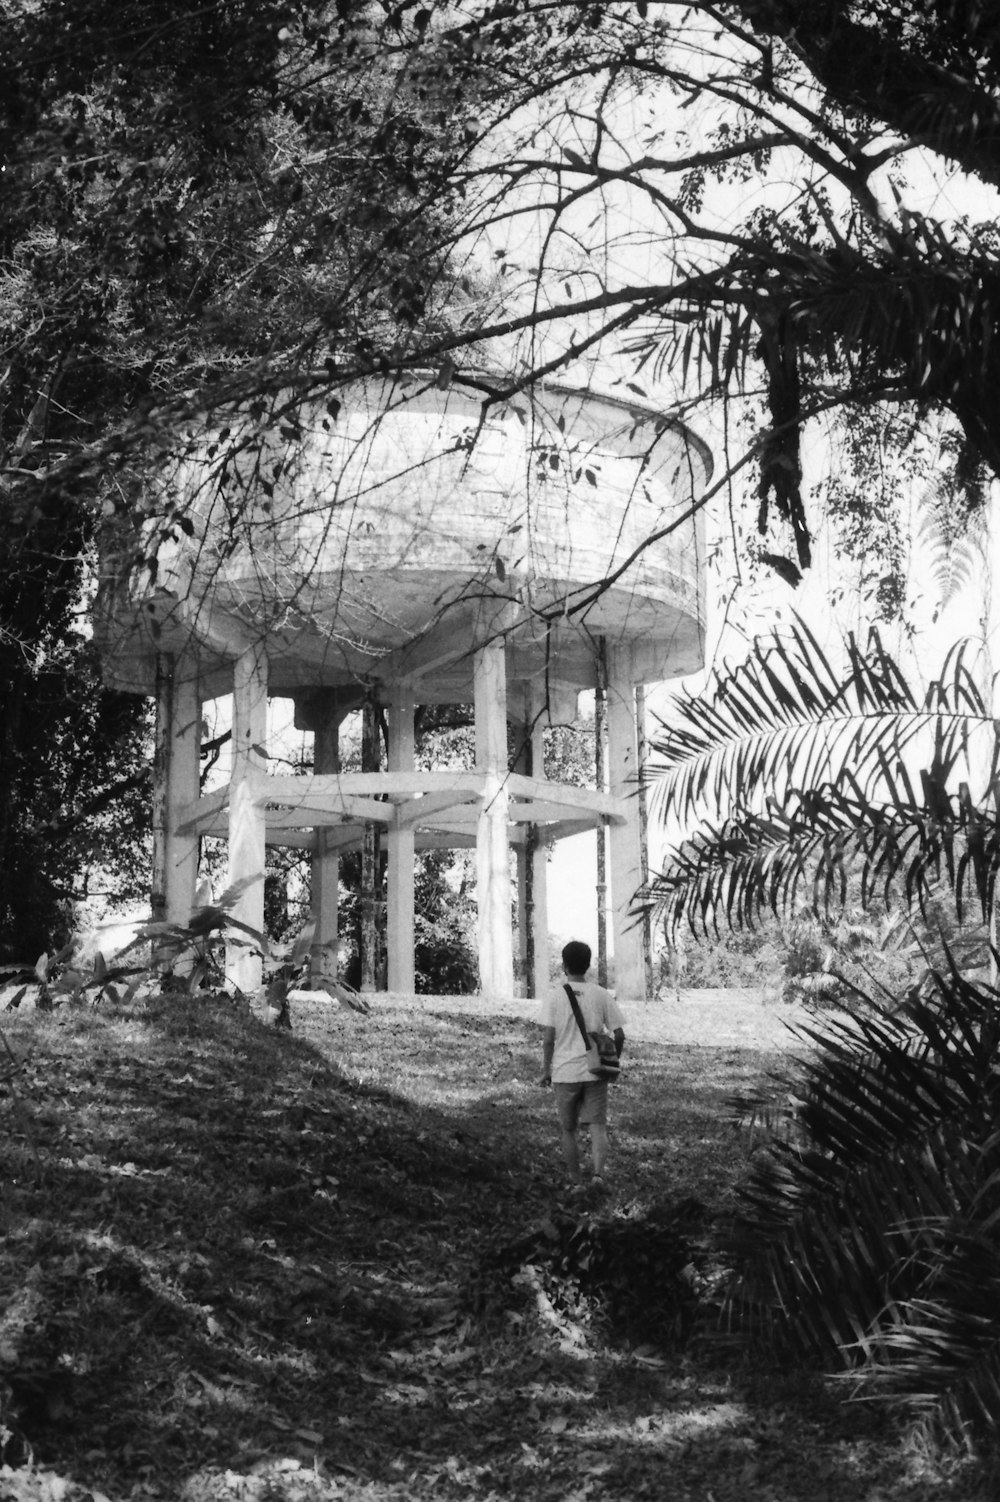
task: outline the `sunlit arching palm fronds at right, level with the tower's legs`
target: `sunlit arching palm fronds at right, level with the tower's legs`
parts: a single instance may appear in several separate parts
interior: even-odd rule
[[[970,904],[986,916],[1000,831],[983,799],[995,775],[965,644],[917,697],[877,631],[863,647],[850,637],[835,665],[799,623],[664,716],[652,807],[691,832],[668,850],[650,901],[668,924],[704,931],[802,903],[842,906],[857,870],[862,907],[899,897],[926,909],[940,879],[959,919]]]

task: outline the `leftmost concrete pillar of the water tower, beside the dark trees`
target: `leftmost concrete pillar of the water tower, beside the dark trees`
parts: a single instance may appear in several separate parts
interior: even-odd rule
[[[198,837],[177,834],[180,810],[198,796],[201,703],[195,665],[171,653],[156,659],[153,751],[152,912],[159,922],[186,924],[198,882]]]

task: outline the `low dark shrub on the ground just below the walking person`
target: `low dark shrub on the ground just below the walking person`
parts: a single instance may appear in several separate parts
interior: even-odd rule
[[[479,1283],[495,1296],[533,1269],[560,1314],[601,1320],[611,1337],[683,1344],[713,1296],[707,1211],[694,1199],[602,1212],[554,1211],[500,1242]],[[485,1293],[489,1301],[489,1292]]]

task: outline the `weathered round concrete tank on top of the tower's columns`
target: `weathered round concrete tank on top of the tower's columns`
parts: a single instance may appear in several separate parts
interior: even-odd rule
[[[372,379],[206,431],[165,482],[192,533],[155,575],[104,557],[105,676],[150,691],[164,647],[210,674],[264,635],[273,692],[347,685],[414,641],[471,649],[498,611],[526,677],[592,682],[598,637],[637,647],[637,677],[698,667],[706,446],[634,401],[498,391]],[[438,697],[462,697],[449,661]]]

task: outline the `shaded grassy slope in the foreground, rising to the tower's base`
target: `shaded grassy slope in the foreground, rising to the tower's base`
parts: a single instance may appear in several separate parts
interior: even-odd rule
[[[116,1502],[991,1494],[799,1373],[629,1347],[483,1271],[565,1206],[526,1021],[317,1006],[288,1036],[171,999],[3,1030],[0,1373],[42,1470],[0,1502],[51,1473]],[[770,1062],[643,1044],[601,1215],[694,1197],[709,1230],[745,1161],[724,1101]]]

